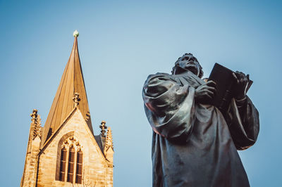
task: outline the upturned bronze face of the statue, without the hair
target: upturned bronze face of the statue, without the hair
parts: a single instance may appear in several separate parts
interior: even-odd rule
[[[181,57],[178,60],[178,66],[183,68],[184,70],[189,70],[197,76],[199,76],[200,74],[200,63],[197,61],[197,58],[192,55]]]

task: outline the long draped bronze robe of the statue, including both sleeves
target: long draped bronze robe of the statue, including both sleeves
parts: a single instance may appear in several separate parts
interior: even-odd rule
[[[243,103],[233,98],[224,118],[213,105],[195,102],[201,84],[192,72],[157,73],[145,82],[153,186],[250,186],[237,150],[257,140],[259,113],[250,98]]]

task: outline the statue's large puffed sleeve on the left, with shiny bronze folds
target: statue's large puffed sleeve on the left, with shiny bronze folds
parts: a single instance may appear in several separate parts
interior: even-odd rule
[[[168,139],[186,141],[192,131],[195,89],[167,76],[149,77],[143,87],[145,112],[152,129]]]

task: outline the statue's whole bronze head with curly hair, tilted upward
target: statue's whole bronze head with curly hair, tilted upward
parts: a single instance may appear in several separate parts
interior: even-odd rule
[[[171,73],[173,75],[178,75],[188,70],[200,78],[204,75],[202,66],[198,62],[197,58],[195,58],[195,56],[191,53],[185,53],[183,56],[179,57]]]

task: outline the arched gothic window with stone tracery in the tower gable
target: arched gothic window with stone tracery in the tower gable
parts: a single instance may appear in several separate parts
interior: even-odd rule
[[[82,161],[80,143],[73,136],[66,138],[61,146],[59,181],[82,183]]]

